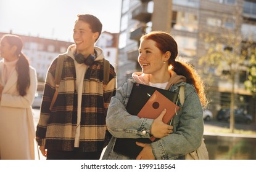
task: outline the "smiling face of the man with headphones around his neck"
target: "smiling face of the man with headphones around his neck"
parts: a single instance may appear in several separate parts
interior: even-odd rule
[[[94,53],[94,44],[98,36],[99,33],[93,33],[88,23],[81,20],[76,21],[73,29],[76,52],[83,55]]]

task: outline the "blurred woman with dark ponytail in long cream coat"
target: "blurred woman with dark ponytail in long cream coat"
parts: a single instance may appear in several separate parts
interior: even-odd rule
[[[35,159],[35,127],[31,104],[37,89],[36,70],[22,53],[19,36],[1,38],[0,155],[5,160]]]

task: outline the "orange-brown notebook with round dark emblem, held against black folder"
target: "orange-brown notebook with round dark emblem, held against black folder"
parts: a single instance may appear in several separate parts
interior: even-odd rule
[[[167,112],[163,116],[163,122],[170,123],[171,119],[176,114],[176,111],[180,109],[180,107],[170,101],[166,96],[155,90],[141,111],[139,111],[138,117],[156,119],[163,109],[167,109]],[[154,140],[154,137],[151,138],[151,141]]]

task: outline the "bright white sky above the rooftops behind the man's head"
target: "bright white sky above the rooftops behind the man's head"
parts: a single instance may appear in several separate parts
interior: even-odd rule
[[[95,15],[119,33],[122,0],[0,0],[0,32],[73,42],[78,14]]]

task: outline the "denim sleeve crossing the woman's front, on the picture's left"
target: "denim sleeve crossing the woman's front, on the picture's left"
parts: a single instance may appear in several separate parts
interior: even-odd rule
[[[126,104],[133,87],[133,80],[128,80],[117,89],[111,98],[107,111],[106,123],[110,133],[116,138],[149,138],[152,119],[139,118],[126,111]],[[146,131],[146,135],[142,134]]]

